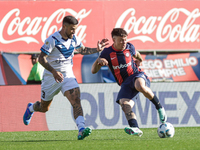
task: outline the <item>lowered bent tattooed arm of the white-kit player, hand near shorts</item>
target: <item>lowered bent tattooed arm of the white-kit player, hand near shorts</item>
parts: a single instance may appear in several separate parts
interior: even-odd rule
[[[63,74],[61,72],[58,72],[56,71],[47,61],[46,57],[48,55],[45,54],[44,52],[41,52],[40,53],[40,56],[39,56],[39,63],[45,68],[47,69],[48,71],[50,71],[53,76],[54,76],[54,79],[56,80],[56,82],[62,82],[63,81]]]

